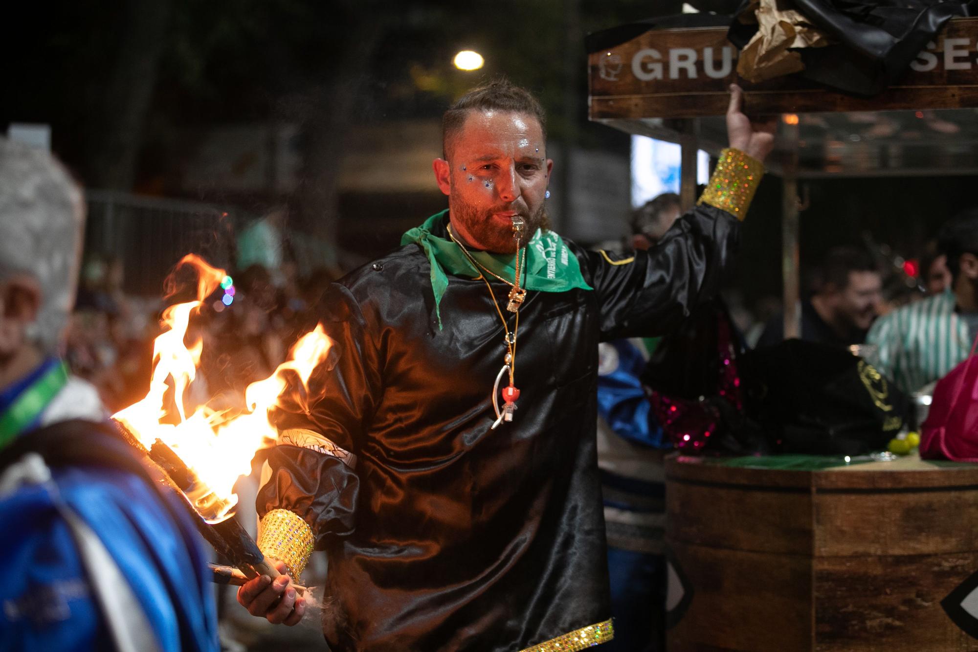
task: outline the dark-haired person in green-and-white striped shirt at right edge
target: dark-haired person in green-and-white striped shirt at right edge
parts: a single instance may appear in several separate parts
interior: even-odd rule
[[[951,286],[879,318],[867,336],[867,344],[877,348],[873,361],[879,371],[905,392],[945,376],[978,336],[978,209],[945,224],[938,248],[947,256]]]

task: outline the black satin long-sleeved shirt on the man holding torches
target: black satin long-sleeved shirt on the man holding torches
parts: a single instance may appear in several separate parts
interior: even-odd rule
[[[449,276],[442,329],[418,245],[330,286],[334,364],[309,409],[276,415],[258,512],[294,511],[327,551],[334,652],[516,652],[610,617],[598,343],[677,326],[718,288],[737,233],[732,215],[697,207],[634,259],[568,242],[594,290],[527,294],[517,410],[497,430],[507,349],[482,280]],[[492,289],[512,330],[509,286]]]

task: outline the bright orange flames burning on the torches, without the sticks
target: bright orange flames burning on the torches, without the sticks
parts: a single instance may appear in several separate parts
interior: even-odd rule
[[[318,325],[295,343],[289,359],[271,376],[247,387],[246,411],[229,416],[207,405],[198,405],[188,417],[185,406],[188,390],[197,377],[203,345],[198,341],[188,348],[184,339],[191,317],[200,312],[201,302],[217,288],[225,274],[199,256],[184,256],[178,267],[183,264],[190,264],[198,271],[198,300],[178,303],[163,311],[162,321],[167,330],[156,338],[154,345],[150,391],[112,418],[125,425],[147,449],[156,440],[167,444],[212,492],[211,497],[217,498],[207,501],[211,509],[201,514],[208,521],[217,522],[230,516],[231,508],[237,504],[233,487],[241,476],[251,472],[255,452],[272,445],[277,438],[277,431],[269,422],[269,410],[287,396],[287,372],[294,372],[302,388],[308,391],[309,377],[327,359],[332,343],[323,326]],[[176,415],[166,407],[167,396],[172,396]],[[174,416],[175,424],[163,422],[164,418],[172,421]],[[198,502],[199,507],[203,504],[202,500]]]

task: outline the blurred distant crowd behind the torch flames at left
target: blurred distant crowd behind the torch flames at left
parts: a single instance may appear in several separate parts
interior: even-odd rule
[[[202,341],[200,377],[193,391],[215,409],[243,407],[244,389],[285,361],[291,343],[315,328],[312,306],[337,270],[299,274],[292,262],[269,269],[250,264],[234,272],[230,303],[218,289],[201,306],[188,334]],[[111,412],[146,396],[153,345],[168,303],[123,290],[125,270],[115,256],[87,256],[67,334],[72,372],[99,390]]]

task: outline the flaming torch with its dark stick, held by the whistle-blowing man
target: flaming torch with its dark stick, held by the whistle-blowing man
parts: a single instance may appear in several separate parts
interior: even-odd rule
[[[200,313],[203,300],[225,273],[194,255],[184,256],[177,269],[183,265],[197,271],[197,300],[163,311],[166,330],[154,345],[150,391],[112,419],[123,438],[152,461],[149,466],[156,468],[158,481],[183,495],[199,517],[196,520],[204,538],[241,571],[219,573],[222,581],[240,582],[257,575],[274,580],[279,572],[254,539],[230,518],[238,502],[233,488],[241,476],[251,472],[255,452],[276,441],[269,410],[287,396],[289,375],[296,375],[308,390],[309,377],[328,358],[331,342],[322,325],[303,335],[290,350],[289,359],[271,376],[247,387],[241,413],[217,411],[206,404],[188,410],[188,390],[197,377],[203,345],[199,339],[188,347],[187,331],[191,318]]]

